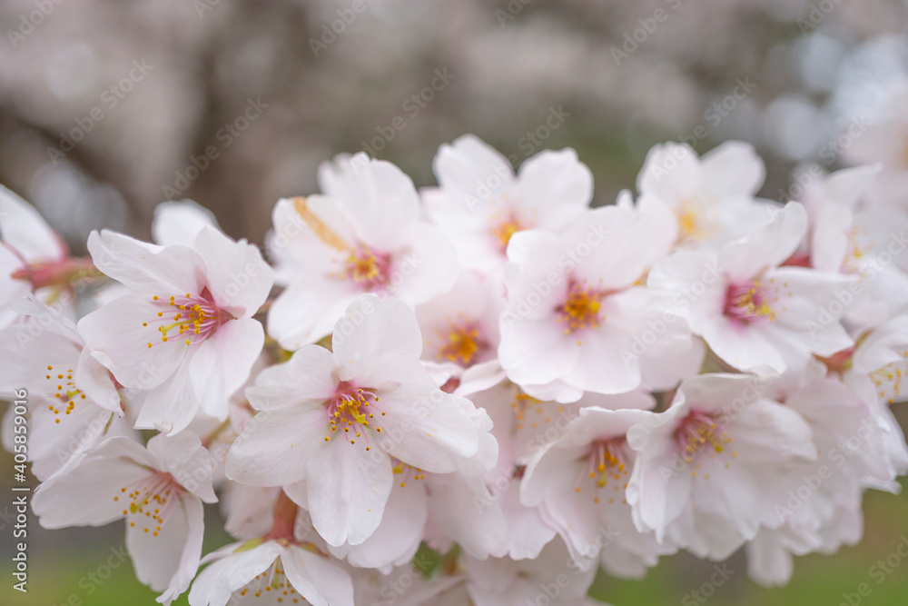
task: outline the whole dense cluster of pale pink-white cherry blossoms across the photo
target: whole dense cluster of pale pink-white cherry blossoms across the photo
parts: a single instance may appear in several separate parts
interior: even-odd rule
[[[71,258],[0,190],[41,524],[122,519],[192,606],[581,604],[600,568],[742,547],[783,584],[860,539],[908,472],[908,207],[874,203],[879,165],[777,204],[749,145],[663,144],[600,207],[569,149],[515,173],[466,135],[433,168],[339,156],[265,255],[184,201]],[[202,557],[214,502],[235,542]]]

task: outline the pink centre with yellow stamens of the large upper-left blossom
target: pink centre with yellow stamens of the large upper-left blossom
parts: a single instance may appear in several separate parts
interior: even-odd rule
[[[207,288],[202,294],[171,296],[169,301],[163,301],[161,297],[154,295],[152,300],[155,307],[163,311],[158,312],[157,318],[143,322],[142,325],[156,324],[158,333],[161,333],[161,343],[167,343],[173,337],[187,345],[201,343],[222,323],[233,318],[230,313],[218,308]],[[154,343],[148,343],[149,348],[153,345]]]

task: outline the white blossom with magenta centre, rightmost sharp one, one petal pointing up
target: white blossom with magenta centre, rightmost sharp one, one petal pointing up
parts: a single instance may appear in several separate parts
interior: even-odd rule
[[[671,296],[667,311],[685,318],[710,349],[741,370],[803,366],[853,342],[839,318],[856,278],[780,267],[806,229],[801,204],[717,252],[681,252],[656,263],[647,284]],[[837,297],[838,295],[838,297]]]

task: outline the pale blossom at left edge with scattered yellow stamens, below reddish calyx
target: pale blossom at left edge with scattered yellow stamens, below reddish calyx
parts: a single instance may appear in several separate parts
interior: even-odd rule
[[[28,458],[46,480],[66,462],[123,427],[120,394],[110,371],[84,347],[75,324],[30,295],[14,303],[20,320],[0,330],[0,396],[28,385],[33,403]],[[13,408],[7,409],[12,418]],[[112,421],[112,417],[116,417]],[[4,433],[12,443],[13,427]]]

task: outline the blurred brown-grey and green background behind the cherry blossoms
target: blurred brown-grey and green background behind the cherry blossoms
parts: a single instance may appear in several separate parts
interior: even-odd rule
[[[908,81],[896,0],[2,0],[0,25],[0,183],[74,253],[101,227],[147,237],[155,204],[182,198],[262,243],[272,204],[316,192],[334,154],[365,150],[429,185],[439,144],[464,133],[515,166],[576,148],[596,204],[633,188],[653,144],[744,139],[766,161],[761,194],[785,200],[806,165],[840,167],[839,134],[882,118]],[[908,497],[870,494],[866,521],[859,546],[797,561],[784,590],[757,588],[735,556],[709,601],[835,606],[869,581],[862,603],[905,603],[908,562],[879,585],[868,569],[908,536]],[[5,572],[0,604],[153,603],[128,561],[86,581],[122,546],[119,524],[30,529],[32,591],[10,595]],[[679,555],[594,591],[701,603],[690,591],[712,566]]]

